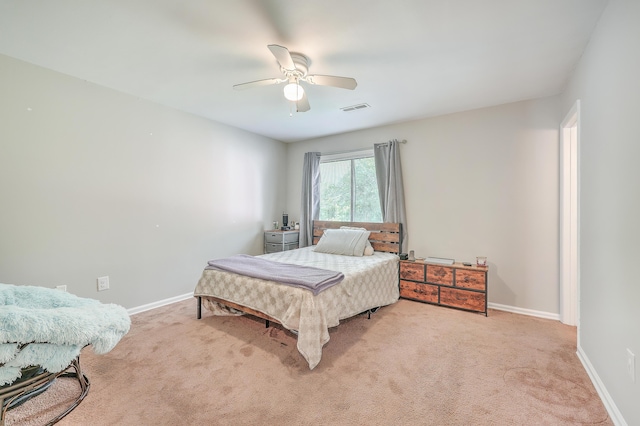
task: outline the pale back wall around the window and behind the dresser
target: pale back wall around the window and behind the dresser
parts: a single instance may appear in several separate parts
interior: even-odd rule
[[[289,144],[287,208],[299,217],[305,152],[406,139],[409,249],[487,256],[491,303],[557,317],[560,119],[552,97]]]

